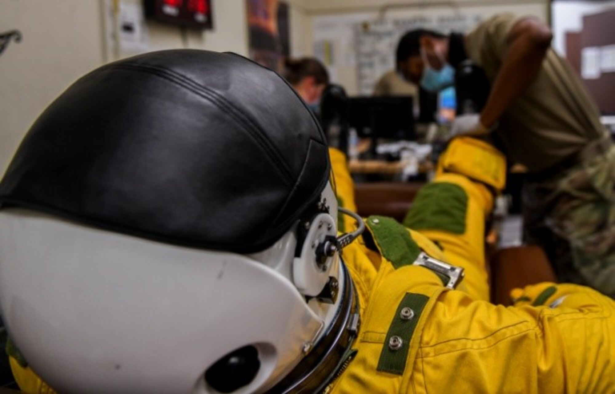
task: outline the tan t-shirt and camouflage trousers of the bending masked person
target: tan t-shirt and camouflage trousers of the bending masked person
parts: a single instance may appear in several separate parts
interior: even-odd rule
[[[465,36],[467,57],[492,85],[521,18],[494,15]],[[546,250],[561,281],[615,296],[614,154],[603,144],[609,136],[599,114],[568,61],[549,49],[495,134],[509,160],[531,173],[523,199],[526,241]]]

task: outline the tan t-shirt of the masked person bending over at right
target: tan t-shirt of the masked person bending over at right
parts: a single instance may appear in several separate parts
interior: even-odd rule
[[[520,18],[492,17],[466,36],[470,60],[493,83],[507,48],[510,28]],[[538,172],[605,136],[598,108],[567,61],[549,49],[530,87],[499,120],[498,133],[509,157]]]

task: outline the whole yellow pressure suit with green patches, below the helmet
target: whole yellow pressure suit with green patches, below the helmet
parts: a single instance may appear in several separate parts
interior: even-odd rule
[[[498,160],[489,145],[454,140],[431,190],[419,193],[407,217],[420,231],[370,217],[367,234],[343,249],[361,325],[354,359],[325,392],[615,392],[612,299],[587,287],[546,283],[515,290],[512,307],[488,302],[483,226],[493,205],[490,188],[503,185]],[[332,150],[331,162],[340,200],[352,209],[345,158]],[[454,223],[460,206],[465,223]],[[456,290],[412,265],[416,247],[465,269]]]

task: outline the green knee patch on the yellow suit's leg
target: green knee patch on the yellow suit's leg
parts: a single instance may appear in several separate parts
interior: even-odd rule
[[[467,193],[448,182],[429,183],[421,188],[403,219],[412,230],[466,232]]]

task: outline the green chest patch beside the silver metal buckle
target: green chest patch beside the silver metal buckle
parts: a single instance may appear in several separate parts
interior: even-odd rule
[[[394,218],[370,216],[366,222],[378,245],[380,254],[397,268],[412,265],[421,253],[421,248],[410,232]]]

